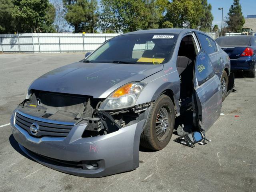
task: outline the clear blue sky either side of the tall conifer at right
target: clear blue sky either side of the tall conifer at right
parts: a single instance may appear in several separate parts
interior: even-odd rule
[[[233,0],[208,0],[208,3],[212,5],[212,15],[214,16],[213,25],[217,24],[221,26],[222,10],[218,10],[218,8],[223,7],[223,18],[225,18],[233,2]],[[256,15],[256,0],[240,0],[240,4],[244,17],[247,17],[247,15]]]

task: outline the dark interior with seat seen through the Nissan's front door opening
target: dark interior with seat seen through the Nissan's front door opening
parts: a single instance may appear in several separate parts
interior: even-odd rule
[[[180,42],[177,69],[180,76],[181,110],[192,108],[194,62],[197,49],[192,35],[185,36]]]

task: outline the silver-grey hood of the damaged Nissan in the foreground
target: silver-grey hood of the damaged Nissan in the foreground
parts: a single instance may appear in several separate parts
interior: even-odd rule
[[[118,87],[144,78],[163,69],[163,64],[112,64],[76,62],[52,70],[38,79],[29,90],[106,98]]]

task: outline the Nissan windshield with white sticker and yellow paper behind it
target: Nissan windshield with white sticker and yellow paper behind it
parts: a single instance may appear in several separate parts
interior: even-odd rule
[[[160,64],[172,56],[177,34],[132,34],[112,38],[84,62]]]

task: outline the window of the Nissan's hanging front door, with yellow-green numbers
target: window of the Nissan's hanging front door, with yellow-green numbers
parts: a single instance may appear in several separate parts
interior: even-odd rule
[[[214,76],[214,70],[212,68],[210,58],[206,52],[200,52],[197,56],[195,71],[199,86]]]

